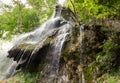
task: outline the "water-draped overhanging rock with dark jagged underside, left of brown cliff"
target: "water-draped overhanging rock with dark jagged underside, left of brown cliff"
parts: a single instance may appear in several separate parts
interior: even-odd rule
[[[71,33],[72,27],[75,26],[72,19],[64,18],[66,13],[58,14],[60,11],[65,12],[65,10],[68,11],[69,9],[56,6],[56,12],[51,19],[35,31],[22,34],[18,37],[7,56],[13,58],[16,63],[14,68],[11,66],[9,69],[12,69],[14,72],[9,71],[9,75],[6,74],[4,78],[8,78],[21,70],[38,71],[39,64],[46,65],[44,67],[44,74],[48,75],[48,77],[57,74],[61,50],[66,38]],[[67,17],[70,16],[67,15]]]

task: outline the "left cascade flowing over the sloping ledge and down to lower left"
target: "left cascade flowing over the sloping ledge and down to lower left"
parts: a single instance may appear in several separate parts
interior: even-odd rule
[[[43,40],[45,40],[50,34],[52,34],[52,32],[55,29],[57,29],[56,22],[60,19],[61,19],[60,17],[51,18],[48,21],[46,21],[42,26],[40,26],[38,29],[36,29],[32,32],[20,35],[14,41],[13,46],[19,46],[19,44],[21,44],[21,43],[30,44],[30,45],[37,45],[39,43],[39,45],[41,45],[41,47],[42,47],[43,42],[44,42]],[[6,46],[8,46],[8,45],[9,44],[6,44]],[[10,47],[12,47],[12,46],[10,46]],[[0,50],[1,51],[0,63],[2,63],[0,65],[0,76],[3,76],[2,77],[3,79],[10,77],[17,72],[16,71],[17,64],[22,64],[24,62],[24,61],[22,61],[22,63],[21,63],[21,59],[22,59],[24,53],[26,52],[26,50],[29,49],[29,47],[26,47],[26,46],[22,47],[22,49],[25,49],[25,50],[22,54],[21,54],[21,52],[19,52],[17,54],[17,56],[20,56],[21,58],[18,61],[18,63],[16,63],[16,62],[6,58],[6,56],[8,55],[6,53],[8,50],[10,50],[10,47],[8,47],[7,49],[4,48],[5,50],[3,48],[2,48],[3,50]],[[35,47],[35,49],[34,49],[35,51],[38,49],[37,47],[38,46]],[[33,53],[35,52],[34,50],[33,50]],[[31,54],[30,59],[31,58],[32,58],[32,54]],[[4,71],[4,73],[3,73],[3,71]],[[5,74],[5,72],[6,72],[6,74]],[[3,75],[3,74],[5,74],[5,75]]]

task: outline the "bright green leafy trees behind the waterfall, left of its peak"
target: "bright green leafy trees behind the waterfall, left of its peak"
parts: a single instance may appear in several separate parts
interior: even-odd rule
[[[55,0],[28,0],[30,8],[21,1],[13,0],[14,7],[5,5],[7,11],[0,15],[0,37],[28,32],[47,20],[53,11]]]

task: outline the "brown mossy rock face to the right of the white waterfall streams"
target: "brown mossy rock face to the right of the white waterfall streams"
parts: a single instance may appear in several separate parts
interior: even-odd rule
[[[105,26],[74,27],[62,50],[69,83],[96,83],[109,68],[119,67],[119,37]]]

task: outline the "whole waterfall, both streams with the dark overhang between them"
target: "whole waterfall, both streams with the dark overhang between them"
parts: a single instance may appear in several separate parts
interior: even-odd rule
[[[59,76],[59,65],[63,45],[74,25],[70,20],[65,20],[61,16],[62,7],[56,6],[55,10],[56,14],[36,30],[21,34],[16,38],[12,48],[7,50],[8,54],[5,54],[4,58],[6,59],[8,55],[7,57],[11,58],[11,61],[8,60],[9,64],[5,68],[4,75],[0,73],[2,80],[15,75],[18,71],[30,69],[32,65],[39,65],[43,59],[47,65],[41,71],[41,76],[43,77],[40,79],[42,79],[42,81],[45,81],[45,83],[52,83],[58,81],[58,79],[60,80],[59,83],[68,81],[68,75],[66,73]],[[50,37],[53,37],[53,39],[46,44],[47,39]],[[43,49],[46,48],[47,45],[50,49],[46,50],[47,53],[45,53]],[[7,65],[7,63],[4,65]]]

